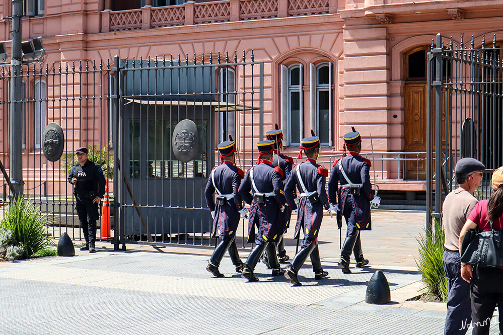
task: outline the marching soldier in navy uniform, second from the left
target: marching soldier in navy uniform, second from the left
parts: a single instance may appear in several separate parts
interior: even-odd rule
[[[260,141],[257,143],[259,160],[255,166],[246,172],[246,176],[239,187],[239,193],[251,204],[248,222],[248,243],[255,241],[245,262],[241,277],[250,282],[258,281],[253,271],[258,260],[265,252],[273,276],[280,276],[284,270],[279,267],[274,242],[281,236],[279,229],[279,215],[284,210],[283,171],[273,166],[274,141]],[[251,192],[251,193],[250,193]],[[255,234],[255,226],[257,234]]]

